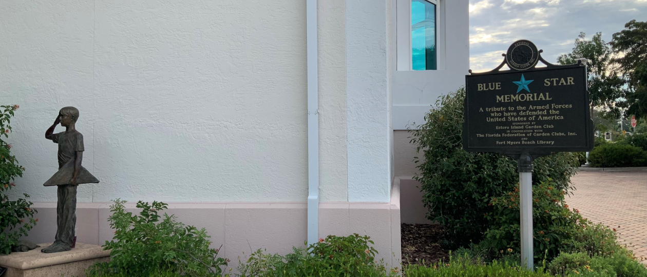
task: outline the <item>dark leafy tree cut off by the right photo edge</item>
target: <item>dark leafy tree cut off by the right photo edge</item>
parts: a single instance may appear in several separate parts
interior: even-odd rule
[[[629,21],[625,30],[613,34],[611,47],[624,54],[615,59],[627,79],[626,114],[647,118],[647,22]]]

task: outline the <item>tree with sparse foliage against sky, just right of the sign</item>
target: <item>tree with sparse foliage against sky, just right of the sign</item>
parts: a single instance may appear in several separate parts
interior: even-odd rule
[[[625,82],[615,67],[615,53],[602,39],[602,33],[595,33],[589,41],[586,34],[580,32],[573,51],[559,56],[557,62],[571,65],[582,57],[588,60],[586,71],[591,111],[594,107],[600,107],[604,118],[619,118],[622,105],[618,105],[618,99],[624,96]]]

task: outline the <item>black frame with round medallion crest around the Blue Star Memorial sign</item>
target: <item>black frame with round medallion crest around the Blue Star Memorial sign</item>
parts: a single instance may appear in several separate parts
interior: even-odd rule
[[[528,43],[525,43],[528,42]],[[463,149],[465,149],[467,152],[499,152],[501,154],[507,155],[507,156],[512,156],[513,158],[519,158],[522,153],[527,153],[530,156],[532,156],[532,159],[537,158],[539,156],[545,156],[548,154],[551,154],[551,152],[587,152],[593,149],[593,120],[591,120],[591,102],[589,100],[589,92],[586,90],[587,88],[587,74],[586,74],[586,65],[582,63],[582,61],[578,61],[578,63],[573,64],[573,65],[554,65],[552,63],[549,63],[545,61],[545,59],[542,58],[541,53],[543,50],[536,50],[534,48],[534,53],[532,53],[531,59],[528,61],[528,64],[530,65],[527,68],[523,69],[516,69],[514,65],[509,64],[509,57],[511,50],[519,45],[520,43],[525,43],[526,45],[529,46],[529,48],[534,48],[534,44],[532,42],[527,41],[527,40],[520,40],[514,42],[512,45],[510,45],[510,48],[508,50],[507,54],[502,54],[504,57],[503,62],[501,65],[498,67],[494,68],[494,70],[491,70],[489,72],[472,72],[472,70],[469,70],[470,74],[465,76],[465,110],[464,110],[464,116],[465,116],[465,121],[463,122]],[[532,61],[532,59],[536,59],[535,61]],[[544,68],[536,68],[536,65],[538,64],[538,61],[542,61],[543,64],[546,65]],[[500,70],[504,65],[508,65],[510,70]],[[578,146],[553,146],[553,145],[546,145],[546,146],[538,146],[538,145],[530,145],[530,146],[510,146],[510,145],[498,145],[498,146],[492,146],[492,147],[475,147],[473,145],[470,145],[470,122],[469,122],[469,112],[470,108],[468,107],[469,103],[469,97],[470,97],[470,92],[468,91],[469,86],[468,86],[468,79],[472,76],[496,76],[499,74],[510,74],[510,73],[525,73],[525,72],[540,72],[540,71],[549,71],[549,70],[556,70],[556,69],[565,69],[565,68],[581,68],[582,72],[582,77],[585,81],[584,83],[584,99],[586,101],[586,112],[584,112],[584,141],[586,142],[585,145],[578,145]]]

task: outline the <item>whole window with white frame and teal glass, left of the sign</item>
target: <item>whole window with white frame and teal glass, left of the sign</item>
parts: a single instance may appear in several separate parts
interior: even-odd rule
[[[397,0],[397,70],[439,70],[444,0]]]

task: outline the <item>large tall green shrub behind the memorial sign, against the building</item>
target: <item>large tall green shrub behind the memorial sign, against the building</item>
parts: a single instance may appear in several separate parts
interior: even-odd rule
[[[468,153],[463,150],[463,102],[465,89],[441,96],[425,115],[419,130],[411,130],[417,151],[423,203],[428,218],[448,228],[448,246],[466,246],[483,238],[491,221],[484,214],[492,197],[510,192],[519,181],[516,161],[498,153]],[[560,152],[534,161],[532,180],[552,179],[557,190],[569,190],[578,166],[576,155]]]

